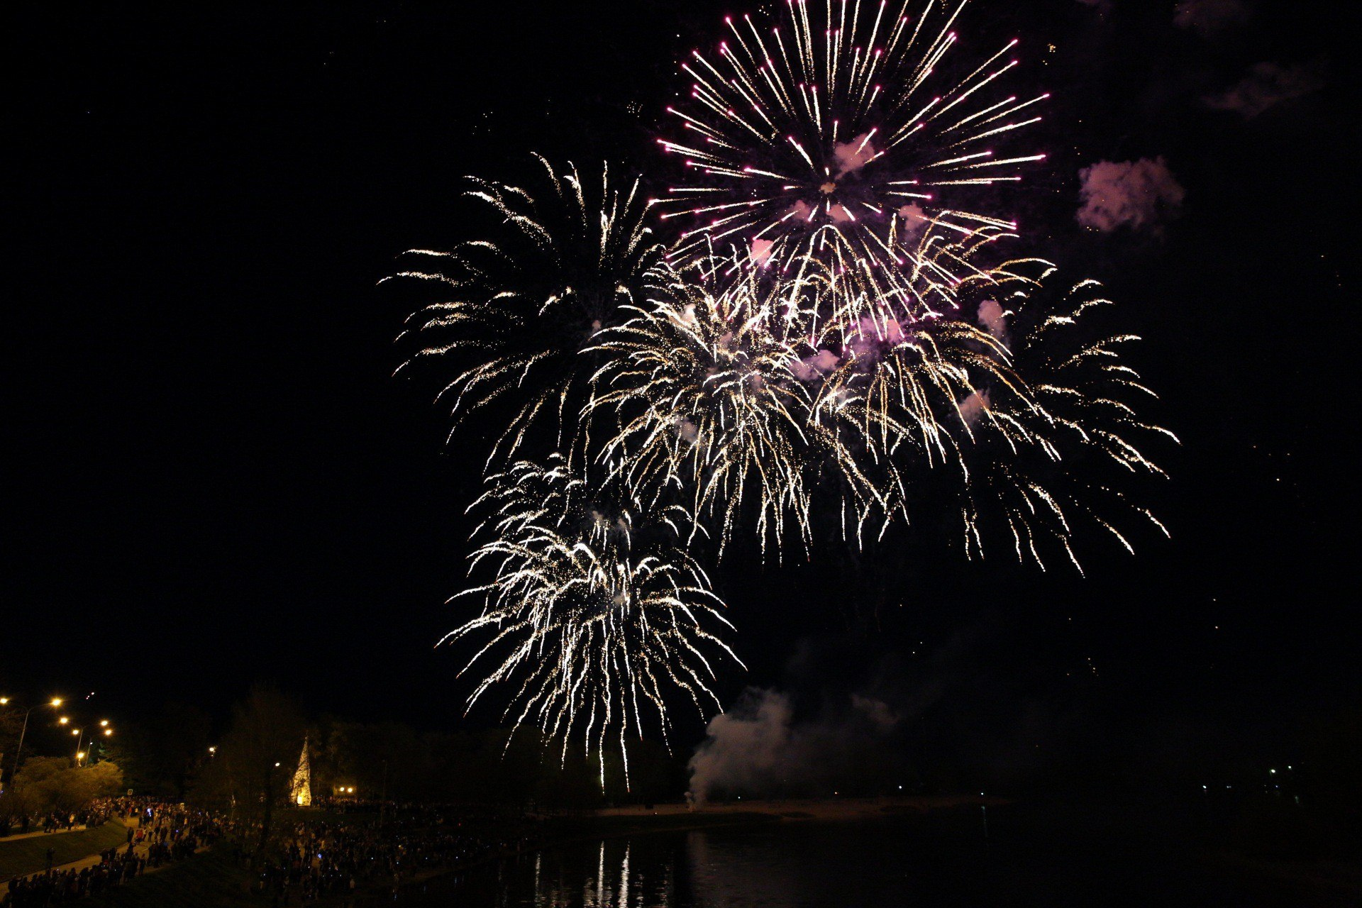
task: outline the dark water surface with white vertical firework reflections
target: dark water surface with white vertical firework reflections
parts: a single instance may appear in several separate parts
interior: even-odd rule
[[[565,844],[432,882],[407,905],[821,908],[1301,904],[1105,815],[974,811],[771,822]],[[1323,903],[1321,903],[1323,904]]]

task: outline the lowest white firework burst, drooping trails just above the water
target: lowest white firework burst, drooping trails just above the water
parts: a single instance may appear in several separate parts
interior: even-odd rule
[[[628,742],[651,726],[667,738],[667,693],[686,696],[701,716],[722,711],[714,663],[741,662],[718,636],[731,629],[723,603],[678,545],[684,509],[644,512],[625,500],[607,513],[597,504],[563,457],[489,476],[470,508],[488,515],[474,532],[486,540],[470,574],[492,576],[455,596],[482,599],[482,610],[441,643],[486,638],[460,672],[492,663],[470,709],[507,685],[503,719],[561,739],[564,758],[573,734],[588,756],[617,742],[628,785]]]

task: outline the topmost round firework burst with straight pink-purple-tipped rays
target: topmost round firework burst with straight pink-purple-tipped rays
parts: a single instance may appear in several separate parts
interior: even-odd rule
[[[685,225],[674,257],[725,246],[780,265],[816,256],[849,302],[911,320],[932,308],[903,280],[923,227],[1016,229],[972,196],[1043,159],[997,143],[1038,123],[1049,95],[1000,87],[1019,65],[1015,39],[951,78],[966,71],[949,65],[964,1],[895,5],[787,0],[763,22],[726,19],[729,39],[681,64],[689,102],[667,109],[680,137],[658,140],[688,172],[662,200],[663,221]]]

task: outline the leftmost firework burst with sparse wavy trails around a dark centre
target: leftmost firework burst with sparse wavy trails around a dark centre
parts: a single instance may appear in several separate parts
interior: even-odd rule
[[[501,219],[494,240],[463,242],[449,252],[411,249],[433,265],[394,275],[434,282],[452,295],[415,312],[399,340],[419,344],[399,372],[422,359],[454,363],[456,374],[437,395],[451,412],[451,437],[471,412],[520,396],[489,463],[509,460],[537,423],[552,447],[569,449],[567,412],[579,406],[579,355],[595,332],[614,324],[632,289],[658,257],[646,226],[650,203],[635,180],[583,178],[571,163],[543,166],[542,192],[470,178],[466,195]]]

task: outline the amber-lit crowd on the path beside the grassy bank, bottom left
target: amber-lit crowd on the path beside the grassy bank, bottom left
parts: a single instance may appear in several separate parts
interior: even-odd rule
[[[87,896],[98,896],[124,883],[148,867],[183,860],[200,845],[211,845],[223,834],[218,817],[183,805],[162,805],[147,798],[112,798],[94,802],[90,825],[117,818],[127,826],[127,841],[106,848],[97,862],[80,867],[52,869],[8,881],[0,892],[3,908],[46,908]],[[49,863],[52,851],[49,849]],[[84,862],[76,862],[84,863]]]

